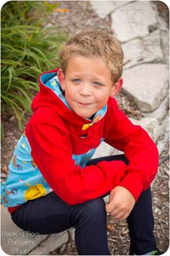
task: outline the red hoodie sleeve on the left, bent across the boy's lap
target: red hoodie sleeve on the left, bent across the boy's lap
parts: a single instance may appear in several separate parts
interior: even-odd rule
[[[97,166],[75,166],[69,132],[60,116],[41,107],[31,117],[25,134],[32,158],[53,191],[70,205],[105,195],[125,176],[122,161]]]

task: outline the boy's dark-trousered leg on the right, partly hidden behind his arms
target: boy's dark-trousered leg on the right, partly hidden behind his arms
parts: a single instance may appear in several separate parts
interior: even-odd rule
[[[128,165],[125,155],[111,155],[104,158],[92,159],[89,164],[99,161],[124,161]],[[143,191],[128,216],[130,234],[130,255],[143,255],[156,249],[156,239],[153,236],[153,212],[151,189]]]

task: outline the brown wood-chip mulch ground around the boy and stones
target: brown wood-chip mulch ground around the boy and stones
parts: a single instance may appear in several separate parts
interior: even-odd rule
[[[166,6],[161,1],[154,1],[158,5],[158,10],[167,24],[169,14]],[[49,21],[53,25],[58,25],[68,33],[73,35],[85,28],[97,28],[109,33],[110,18],[102,20],[91,9],[89,1],[63,1],[61,8],[67,8],[68,12],[53,12]],[[117,101],[128,116],[140,119],[141,113],[128,96],[120,93]],[[4,123],[5,141],[1,142],[1,179],[5,179],[7,165],[12,157],[12,151],[17,144],[21,132],[17,128],[17,122],[12,117],[2,120]],[[158,248],[166,252],[169,248],[169,142],[167,142],[164,152],[160,156],[158,174],[151,184],[153,193],[153,214],[155,218],[155,236]],[[126,221],[112,221],[107,218],[107,230],[109,249],[112,255],[128,255],[130,240],[128,236],[128,226]],[[64,244],[60,249],[49,252],[50,255],[77,255],[75,243],[70,239],[68,244]]]

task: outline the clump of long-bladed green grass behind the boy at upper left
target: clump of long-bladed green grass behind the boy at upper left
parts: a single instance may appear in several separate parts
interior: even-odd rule
[[[66,40],[56,27],[43,27],[49,9],[43,1],[9,1],[1,9],[1,114],[16,116],[20,129],[31,113],[38,75],[59,66]]]

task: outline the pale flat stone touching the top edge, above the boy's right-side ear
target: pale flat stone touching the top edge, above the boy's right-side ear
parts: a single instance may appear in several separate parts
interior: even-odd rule
[[[112,12],[112,30],[120,42],[148,35],[156,29],[157,22],[150,1],[133,1]]]

